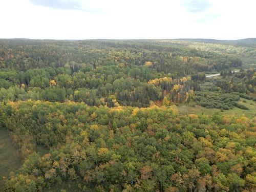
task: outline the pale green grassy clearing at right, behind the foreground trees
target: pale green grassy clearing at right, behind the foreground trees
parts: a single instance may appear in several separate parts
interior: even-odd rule
[[[243,102],[243,101],[246,102]],[[241,99],[239,103],[247,106],[249,110],[242,110],[239,108],[234,107],[231,110],[224,110],[221,111],[220,109],[208,109],[204,108],[203,106],[195,105],[195,106],[187,106],[187,105],[178,105],[179,114],[205,114],[205,115],[212,115],[215,113],[219,113],[220,115],[245,115],[248,118],[252,118],[256,116],[256,102],[248,99]]]

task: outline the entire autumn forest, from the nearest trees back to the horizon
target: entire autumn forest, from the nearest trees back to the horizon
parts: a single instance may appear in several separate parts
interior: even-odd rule
[[[0,39],[3,190],[255,190],[255,59],[253,39]]]

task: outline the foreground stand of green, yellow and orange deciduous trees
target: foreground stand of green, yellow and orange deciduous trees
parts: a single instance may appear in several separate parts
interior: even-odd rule
[[[255,119],[172,107],[0,105],[24,164],[6,191],[253,191]],[[49,153],[36,153],[44,145]]]

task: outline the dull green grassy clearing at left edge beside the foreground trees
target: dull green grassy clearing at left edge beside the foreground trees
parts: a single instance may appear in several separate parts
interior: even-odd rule
[[[10,172],[15,172],[21,164],[18,149],[12,143],[9,132],[0,128],[0,191],[3,190],[3,177],[7,177]]]

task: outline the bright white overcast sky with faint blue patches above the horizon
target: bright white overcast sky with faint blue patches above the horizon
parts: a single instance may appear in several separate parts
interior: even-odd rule
[[[256,37],[254,0],[0,0],[0,38]]]

